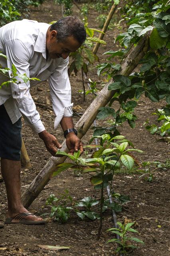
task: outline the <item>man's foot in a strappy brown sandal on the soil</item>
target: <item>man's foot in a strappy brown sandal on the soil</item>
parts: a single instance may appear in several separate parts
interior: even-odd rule
[[[45,224],[45,223],[46,223],[45,220],[35,216],[31,212],[22,212],[22,213],[16,214],[16,216],[14,216],[13,218],[6,218],[6,221],[5,221],[5,224],[38,225],[38,224]]]

